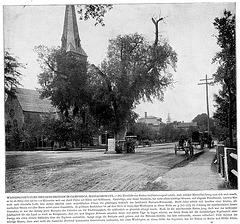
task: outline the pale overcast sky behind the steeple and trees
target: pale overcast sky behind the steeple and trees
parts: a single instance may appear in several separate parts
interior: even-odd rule
[[[39,1],[24,1],[31,4],[23,6],[21,1],[15,2],[15,5],[5,5],[3,9],[4,48],[25,64],[21,80],[23,87],[40,88],[37,75],[41,69],[33,48],[37,45],[61,46],[65,5],[64,2],[50,5],[51,1],[34,5]],[[213,22],[214,18],[223,16],[224,9],[236,13],[235,3],[228,1],[113,4],[113,9],[105,15],[105,26],[94,26],[94,20],[78,20],[81,45],[88,61],[98,65],[106,56],[109,39],[137,32],[148,41],[154,41],[151,18],[165,17],[159,24],[160,35],[178,55],[177,69],[173,72],[174,84],[166,90],[163,102],[142,102],[135,112],[140,117],[147,112],[162,118],[163,122],[168,114],[172,121],[190,122],[198,114],[207,112],[206,86],[198,83],[203,82],[200,79],[206,75],[211,78],[216,71],[217,65],[212,64],[212,58],[220,49]],[[218,93],[219,88],[219,85],[209,86],[210,116],[215,110],[213,94]]]

